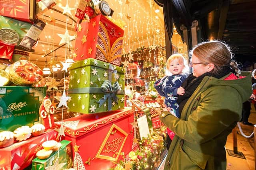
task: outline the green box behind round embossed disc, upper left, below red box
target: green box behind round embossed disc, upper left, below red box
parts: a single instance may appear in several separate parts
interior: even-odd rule
[[[25,35],[28,32],[28,30],[30,29],[31,25],[32,25],[31,23],[22,22],[22,21],[15,20],[12,18],[0,16],[0,29],[10,28],[19,34],[20,40],[17,43],[17,45],[19,45],[20,41],[25,37]]]

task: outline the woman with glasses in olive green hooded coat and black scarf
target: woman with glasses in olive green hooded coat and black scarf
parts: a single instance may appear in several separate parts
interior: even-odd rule
[[[160,120],[176,135],[165,170],[226,170],[227,136],[241,119],[242,103],[252,94],[250,72],[238,74],[225,43],[200,43],[190,52],[193,73],[178,96],[181,117],[169,111]]]

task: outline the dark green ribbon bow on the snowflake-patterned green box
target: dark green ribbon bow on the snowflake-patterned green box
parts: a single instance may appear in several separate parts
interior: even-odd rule
[[[100,89],[102,92],[104,92],[104,97],[100,98],[97,103],[99,103],[99,107],[101,107],[102,104],[104,104],[104,102],[106,102],[108,99],[108,111],[110,111],[112,109],[112,99],[118,104],[119,98],[116,96],[116,94],[121,90],[120,85],[118,82],[114,82],[112,86],[109,80],[105,80]]]

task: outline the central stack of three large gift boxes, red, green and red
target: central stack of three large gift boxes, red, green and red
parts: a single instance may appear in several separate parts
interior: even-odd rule
[[[90,7],[84,5],[79,8]],[[55,123],[64,127],[63,139],[72,141],[79,170],[113,167],[132,150],[134,139],[134,112],[124,108],[125,69],[120,67],[124,30],[101,14],[89,17],[77,27],[68,89],[69,111],[83,114]]]

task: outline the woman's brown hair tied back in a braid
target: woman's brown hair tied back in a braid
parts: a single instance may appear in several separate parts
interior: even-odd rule
[[[221,41],[203,42],[190,51],[190,57],[195,55],[202,63],[214,64],[213,73],[218,74],[225,66],[234,70],[239,77],[239,69],[236,61],[233,61],[233,56],[228,45]]]

